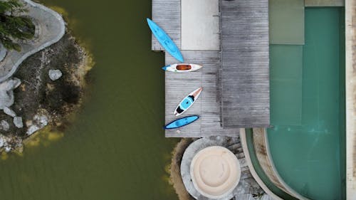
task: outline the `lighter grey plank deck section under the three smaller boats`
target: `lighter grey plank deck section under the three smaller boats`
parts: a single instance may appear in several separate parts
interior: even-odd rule
[[[166,137],[207,137],[212,135],[237,136],[239,130],[221,127],[220,98],[217,95],[217,84],[220,68],[219,51],[182,51],[187,63],[203,65],[201,70],[192,73],[169,73],[165,75],[165,105],[166,123],[177,119],[173,115],[179,102],[193,90],[203,87],[197,102],[179,117],[200,115],[197,122],[180,128],[179,130],[166,130]],[[166,64],[176,63],[177,60],[166,53]]]

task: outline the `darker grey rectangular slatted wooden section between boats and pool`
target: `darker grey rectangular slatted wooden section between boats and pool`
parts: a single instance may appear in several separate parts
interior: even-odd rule
[[[268,127],[268,0],[221,1],[224,127]]]

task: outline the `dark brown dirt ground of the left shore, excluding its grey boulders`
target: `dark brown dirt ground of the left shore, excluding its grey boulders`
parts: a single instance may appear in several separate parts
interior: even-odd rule
[[[22,140],[29,137],[26,132],[36,120],[36,115],[46,115],[46,125],[63,132],[70,124],[68,116],[80,108],[88,80],[92,80],[86,77],[92,66],[91,56],[70,33],[28,57],[13,75],[21,79],[21,85],[14,90],[15,102],[11,106],[16,115],[23,118],[24,126],[16,128],[12,117],[0,112],[0,119],[10,125],[9,130],[0,130],[0,134]],[[63,75],[53,81],[48,70],[61,70]],[[21,144],[11,145],[12,149],[19,146]]]

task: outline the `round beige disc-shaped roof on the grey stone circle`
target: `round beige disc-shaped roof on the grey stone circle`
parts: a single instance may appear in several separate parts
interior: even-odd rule
[[[206,197],[219,199],[239,184],[241,169],[236,156],[225,147],[201,149],[190,165],[195,189]]]

